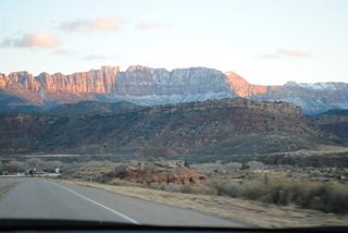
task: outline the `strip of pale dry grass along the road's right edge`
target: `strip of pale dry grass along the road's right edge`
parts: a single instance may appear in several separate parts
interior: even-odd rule
[[[64,182],[101,188],[153,203],[210,212],[261,228],[347,225],[348,222],[348,216],[323,213],[316,210],[300,209],[295,206],[279,207],[224,196],[171,193],[134,186],[114,186],[73,181]]]

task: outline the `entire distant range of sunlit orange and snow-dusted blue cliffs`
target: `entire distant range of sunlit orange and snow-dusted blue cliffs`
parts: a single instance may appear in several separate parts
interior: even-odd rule
[[[26,71],[0,74],[2,111],[49,111],[82,100],[158,106],[235,97],[291,102],[300,106],[304,114],[318,114],[348,109],[348,84],[288,82],[262,86],[249,84],[234,72],[215,69],[166,71],[140,65],[132,65],[125,72],[119,66],[102,66],[70,75],[44,72],[34,76]]]

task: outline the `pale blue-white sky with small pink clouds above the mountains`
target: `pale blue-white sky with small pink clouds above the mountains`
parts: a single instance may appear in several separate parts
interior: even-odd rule
[[[0,73],[204,66],[348,83],[347,0],[0,0]]]

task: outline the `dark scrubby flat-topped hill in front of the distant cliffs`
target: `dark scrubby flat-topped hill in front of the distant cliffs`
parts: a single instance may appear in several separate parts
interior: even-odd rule
[[[284,139],[274,140],[282,138],[274,135]],[[250,99],[65,116],[1,112],[0,136],[0,149],[8,156],[41,152],[120,158],[185,156],[195,151],[211,156],[209,150],[224,157],[235,151],[250,155],[251,145],[268,155],[344,143],[303,118],[297,106]]]

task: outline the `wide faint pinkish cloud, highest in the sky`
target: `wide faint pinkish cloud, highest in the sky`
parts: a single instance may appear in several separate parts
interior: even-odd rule
[[[63,23],[61,28],[69,33],[108,33],[119,30],[119,26],[123,23],[125,23],[125,20],[122,17],[104,16],[95,21],[77,20],[70,23]]]

